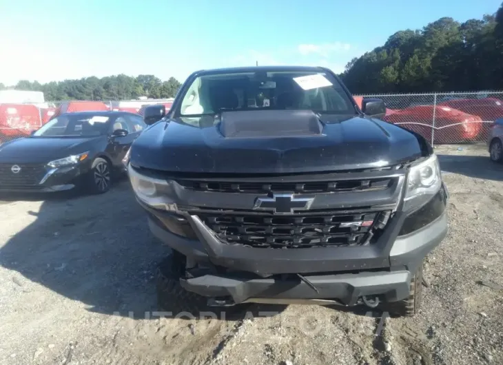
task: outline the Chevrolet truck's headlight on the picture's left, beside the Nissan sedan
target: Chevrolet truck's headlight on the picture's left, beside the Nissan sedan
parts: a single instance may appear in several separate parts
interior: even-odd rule
[[[130,178],[134,194],[139,200],[150,205],[150,207],[176,210],[174,200],[170,198],[174,194],[173,185],[170,180],[162,180],[140,174],[131,164],[127,166],[127,175]]]

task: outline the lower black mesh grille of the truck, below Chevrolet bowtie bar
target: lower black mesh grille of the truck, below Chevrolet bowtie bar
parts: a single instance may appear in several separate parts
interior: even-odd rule
[[[249,247],[304,248],[356,246],[387,222],[389,211],[291,216],[198,213],[220,240]]]

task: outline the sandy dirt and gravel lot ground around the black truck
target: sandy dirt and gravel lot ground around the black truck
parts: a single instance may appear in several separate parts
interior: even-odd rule
[[[437,153],[449,235],[427,259],[420,314],[378,336],[365,310],[321,306],[159,317],[153,274],[167,249],[126,182],[1,202],[0,364],[503,364],[503,167],[475,147]]]

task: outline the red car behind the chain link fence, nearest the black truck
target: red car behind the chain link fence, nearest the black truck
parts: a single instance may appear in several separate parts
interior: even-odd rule
[[[435,129],[433,129],[433,113]],[[407,107],[404,110],[394,110],[387,113],[384,121],[401,125],[417,132],[431,141],[432,131],[434,143],[460,143],[478,140],[482,119],[466,114],[451,107],[420,105]]]

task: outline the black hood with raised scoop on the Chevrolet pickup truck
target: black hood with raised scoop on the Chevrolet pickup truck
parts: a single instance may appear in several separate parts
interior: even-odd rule
[[[260,112],[253,113],[258,125],[263,124]],[[245,112],[228,114],[152,125],[133,143],[132,165],[172,172],[289,174],[382,167],[422,155],[413,134],[376,118],[318,118],[312,113],[301,116],[302,123],[292,114],[293,129],[285,123],[254,129],[249,121],[240,123],[240,118],[247,119]],[[287,120],[288,114],[281,119]]]

